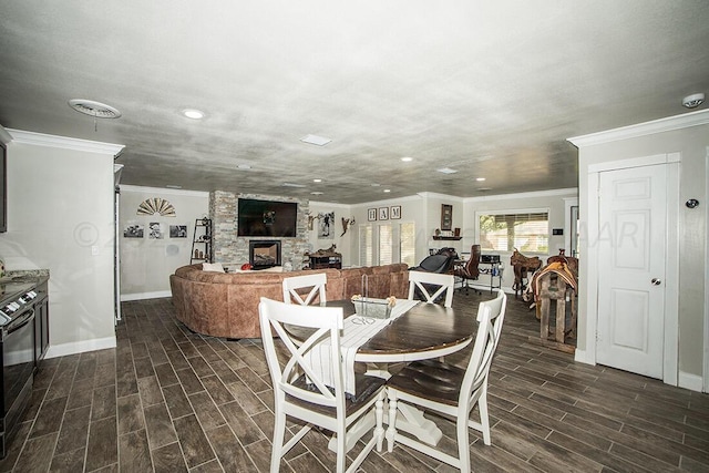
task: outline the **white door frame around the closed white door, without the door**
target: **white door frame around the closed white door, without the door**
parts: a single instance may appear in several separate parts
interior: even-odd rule
[[[666,165],[667,166],[667,251],[665,259],[665,323],[662,349],[662,381],[667,384],[678,384],[679,373],[679,166],[680,153],[666,153],[653,156],[643,156],[628,160],[610,161],[588,166],[588,200],[587,225],[585,246],[586,255],[583,259],[587,266],[588,298],[586,299],[586,331],[585,351],[576,351],[576,360],[596,364],[596,332],[598,329],[598,247],[594,238],[600,235],[598,228],[600,173],[616,169],[625,169],[640,166]],[[593,264],[590,264],[593,261]]]

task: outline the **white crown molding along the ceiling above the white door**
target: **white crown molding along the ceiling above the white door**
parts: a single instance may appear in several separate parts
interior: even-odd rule
[[[630,140],[639,136],[653,135],[656,133],[670,132],[672,130],[687,128],[689,126],[706,125],[708,123],[709,110],[699,110],[697,112],[668,116],[666,119],[638,123],[636,125],[623,126],[620,128],[607,130],[605,132],[574,136],[571,138],[566,138],[566,141],[580,148],[584,146],[593,146],[620,140]]]

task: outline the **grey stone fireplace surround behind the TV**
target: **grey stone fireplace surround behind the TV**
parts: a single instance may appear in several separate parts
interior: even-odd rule
[[[209,193],[209,218],[213,225],[214,261],[223,265],[242,266],[251,260],[249,241],[268,241],[265,237],[237,236],[237,204],[242,198],[281,200],[298,203],[297,228],[295,238],[270,238],[280,241],[280,264],[289,261],[295,270],[302,268],[304,255],[311,251],[308,243],[308,212],[310,203],[291,197],[278,197],[261,194],[237,194],[225,191]]]

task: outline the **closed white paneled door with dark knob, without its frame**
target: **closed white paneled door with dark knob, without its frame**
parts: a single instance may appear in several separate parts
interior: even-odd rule
[[[599,175],[596,360],[662,379],[667,171]]]

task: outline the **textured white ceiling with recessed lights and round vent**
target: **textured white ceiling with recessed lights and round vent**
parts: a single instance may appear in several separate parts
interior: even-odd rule
[[[567,137],[687,113],[684,96],[709,93],[706,0],[0,0],[0,124],[124,144],[122,183],[138,186],[342,204],[575,187]],[[122,116],[80,114],[71,99]]]

